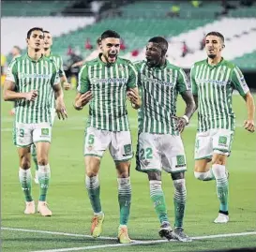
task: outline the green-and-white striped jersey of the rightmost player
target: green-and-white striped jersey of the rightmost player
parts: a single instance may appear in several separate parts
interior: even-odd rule
[[[241,96],[249,91],[240,69],[224,59],[216,66],[203,60],[191,67],[190,80],[192,93],[198,96],[198,131],[211,128],[234,130],[233,90]]]

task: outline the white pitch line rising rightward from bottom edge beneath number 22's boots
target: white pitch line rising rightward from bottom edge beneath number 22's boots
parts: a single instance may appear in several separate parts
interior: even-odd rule
[[[193,240],[204,240],[204,239],[216,239],[216,238],[223,238],[223,237],[234,237],[234,236],[244,236],[244,235],[256,235],[256,231],[252,232],[240,232],[240,233],[224,233],[224,234],[214,234],[214,235],[205,235],[205,236],[197,236],[191,237]],[[83,247],[69,247],[69,248],[57,248],[57,249],[48,249],[48,250],[35,250],[31,252],[68,252],[68,251],[80,251],[80,250],[91,250],[97,248],[106,248],[106,247],[118,247],[118,246],[128,246],[128,245],[154,245],[159,243],[168,243],[167,240],[156,240],[156,241],[135,241],[132,244],[115,244],[115,245],[89,245]],[[177,242],[177,241],[170,241],[170,242]],[[169,242],[169,243],[170,243]]]

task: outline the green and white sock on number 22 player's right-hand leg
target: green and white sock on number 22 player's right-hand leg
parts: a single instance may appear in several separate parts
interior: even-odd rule
[[[186,204],[186,198],[187,198],[187,189],[185,185],[185,179],[173,180],[173,185],[174,185],[173,202],[174,202],[174,214],[175,214],[174,227],[182,228],[184,212],[185,212],[185,204]]]

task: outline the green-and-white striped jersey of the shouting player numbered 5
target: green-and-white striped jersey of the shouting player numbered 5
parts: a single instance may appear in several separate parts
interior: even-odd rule
[[[80,70],[78,92],[92,91],[87,126],[109,131],[127,131],[127,90],[137,87],[135,67],[126,59],[117,58],[106,64],[98,58],[86,62]]]

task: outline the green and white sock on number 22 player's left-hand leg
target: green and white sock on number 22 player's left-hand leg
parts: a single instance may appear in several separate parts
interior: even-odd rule
[[[164,194],[161,187],[161,181],[151,180],[150,185],[150,198],[154,203],[155,211],[158,215],[160,223],[169,222],[166,210]]]

